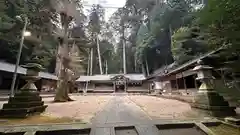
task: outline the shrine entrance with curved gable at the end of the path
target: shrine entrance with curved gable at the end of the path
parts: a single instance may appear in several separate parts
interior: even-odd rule
[[[128,78],[124,75],[116,75],[111,78],[113,81],[113,89],[115,92],[126,92],[127,91],[127,82]]]

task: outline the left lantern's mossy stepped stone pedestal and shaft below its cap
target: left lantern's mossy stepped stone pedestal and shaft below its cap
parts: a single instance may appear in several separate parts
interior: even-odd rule
[[[28,70],[24,78],[27,84],[14,97],[10,97],[8,103],[3,104],[0,117],[24,118],[45,111],[47,105],[44,105],[34,84],[38,80],[38,72]]]

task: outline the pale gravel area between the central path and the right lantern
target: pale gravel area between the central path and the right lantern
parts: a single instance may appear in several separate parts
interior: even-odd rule
[[[152,119],[191,119],[204,117],[193,111],[188,103],[153,96],[129,96]]]

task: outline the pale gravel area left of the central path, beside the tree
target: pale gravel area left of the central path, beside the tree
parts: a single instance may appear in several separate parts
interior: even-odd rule
[[[112,96],[71,96],[75,101],[52,103],[53,98],[44,98],[48,105],[43,115],[68,117],[89,123],[103,109]]]

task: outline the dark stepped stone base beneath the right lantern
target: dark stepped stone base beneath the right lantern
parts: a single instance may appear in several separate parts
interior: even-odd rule
[[[230,107],[223,96],[220,96],[215,91],[199,91],[195,95],[191,107],[199,112],[215,117],[236,115],[235,107]]]

